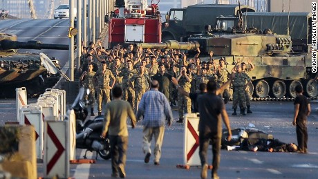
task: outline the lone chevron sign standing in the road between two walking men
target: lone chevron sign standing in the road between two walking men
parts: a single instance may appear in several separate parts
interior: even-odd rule
[[[183,160],[189,166],[200,166],[199,138],[198,138],[198,113],[185,115],[185,138],[183,147]]]

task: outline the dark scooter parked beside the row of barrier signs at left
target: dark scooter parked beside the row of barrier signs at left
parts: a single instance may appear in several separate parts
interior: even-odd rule
[[[109,160],[111,158],[109,138],[107,135],[106,138],[100,136],[104,127],[104,116],[96,116],[93,120],[86,119],[88,111],[87,102],[83,99],[84,93],[88,94],[89,90],[85,91],[84,88],[79,88],[79,93],[71,106],[76,118],[76,148],[86,149],[85,159],[87,151],[96,151],[96,160],[98,155],[104,160]]]

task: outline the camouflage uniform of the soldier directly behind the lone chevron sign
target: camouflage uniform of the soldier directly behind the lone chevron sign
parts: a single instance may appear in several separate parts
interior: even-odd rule
[[[191,75],[188,76],[191,80]],[[187,81],[187,79],[182,76],[180,77],[178,84],[183,87],[185,92],[190,93],[191,84]],[[178,93],[178,111],[179,111],[179,118],[183,118],[184,113],[191,113],[191,100],[189,97],[185,95],[181,95]]]

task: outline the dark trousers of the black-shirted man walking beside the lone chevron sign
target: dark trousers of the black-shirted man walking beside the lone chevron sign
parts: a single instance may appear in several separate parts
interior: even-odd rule
[[[202,135],[201,135],[202,134]],[[212,144],[212,177],[217,176],[218,164],[220,164],[220,150],[221,150],[221,133],[200,133],[199,134],[199,156],[201,165],[207,164],[207,148]]]

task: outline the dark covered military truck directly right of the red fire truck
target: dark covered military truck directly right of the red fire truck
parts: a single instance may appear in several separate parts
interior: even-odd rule
[[[205,31],[205,26],[214,26],[216,17],[239,17],[241,12],[255,12],[250,6],[229,4],[195,4],[187,8],[171,8],[162,23],[162,41],[187,41],[191,35]]]

